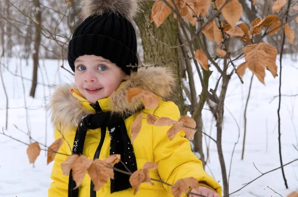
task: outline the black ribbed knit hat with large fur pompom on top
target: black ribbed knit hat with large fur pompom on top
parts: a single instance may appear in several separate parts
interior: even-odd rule
[[[137,37],[132,23],[139,10],[137,0],[82,0],[81,14],[87,17],[75,30],[69,44],[68,61],[81,55],[109,59],[126,74],[137,71]],[[129,11],[130,10],[130,11]],[[135,13],[133,13],[135,12]]]

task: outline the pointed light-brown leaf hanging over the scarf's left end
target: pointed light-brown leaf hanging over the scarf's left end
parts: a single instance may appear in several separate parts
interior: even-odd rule
[[[73,177],[75,181],[76,188],[82,183],[89,166],[92,164],[92,159],[87,159],[84,155],[80,155],[73,164]]]

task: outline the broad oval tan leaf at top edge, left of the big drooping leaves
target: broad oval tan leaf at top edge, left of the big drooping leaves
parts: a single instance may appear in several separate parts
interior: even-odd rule
[[[242,4],[238,0],[231,0],[222,9],[222,14],[226,22],[234,27],[241,18],[242,10]]]

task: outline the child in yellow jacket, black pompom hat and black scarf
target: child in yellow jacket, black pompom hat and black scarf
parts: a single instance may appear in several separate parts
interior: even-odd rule
[[[148,125],[146,114],[178,120],[180,112],[170,99],[176,89],[176,79],[165,67],[148,69],[138,65],[137,40],[133,18],[138,12],[137,0],[82,0],[82,15],[86,18],[74,31],[69,44],[68,61],[74,71],[74,85],[60,86],[49,102],[55,139],[65,138],[56,154],[49,197],[132,197],[134,190],[129,176],[114,171],[110,180],[98,192],[86,175],[77,188],[70,176],[63,175],[61,163],[71,154],[88,159],[105,159],[121,154],[121,160],[134,172],[150,161],[158,169],[150,170],[150,178],[169,184],[194,177],[206,197],[222,195],[221,186],[203,169],[202,162],[192,153],[190,143],[180,131],[171,141],[166,132],[171,126]],[[126,102],[126,91],[142,88],[158,95],[159,105],[144,109],[142,99]],[[131,143],[131,125],[143,113],[142,128]],[[134,115],[132,115],[134,114]],[[115,167],[126,168],[121,163]],[[142,184],[137,197],[171,197],[171,188],[159,182]]]

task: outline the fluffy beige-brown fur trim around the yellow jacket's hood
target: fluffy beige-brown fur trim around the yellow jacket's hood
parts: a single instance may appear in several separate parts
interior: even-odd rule
[[[146,69],[147,68],[147,69]],[[138,72],[133,72],[129,79],[120,86],[109,98],[109,109],[112,113],[123,115],[126,112],[136,113],[143,107],[142,98],[126,102],[126,91],[131,88],[146,89],[163,100],[170,100],[177,90],[177,76],[167,67],[140,67]],[[81,118],[94,113],[76,99],[71,89],[74,84],[55,86],[54,93],[49,97],[47,110],[51,112],[51,120],[57,127],[62,125],[64,130],[77,127]],[[116,104],[117,103],[117,104]]]

